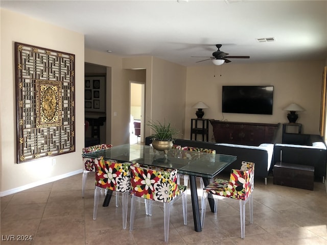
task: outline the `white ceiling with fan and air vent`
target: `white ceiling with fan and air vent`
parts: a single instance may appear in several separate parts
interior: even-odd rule
[[[122,57],[213,65],[191,56],[210,57],[222,44],[230,56],[250,56],[224,65],[327,58],[327,1],[184,1],[1,0],[0,6],[83,33],[86,48]]]

